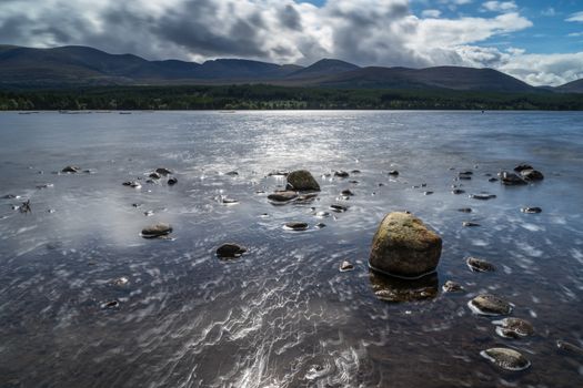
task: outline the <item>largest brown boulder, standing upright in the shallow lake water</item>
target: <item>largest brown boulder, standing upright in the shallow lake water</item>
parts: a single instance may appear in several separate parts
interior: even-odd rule
[[[414,215],[390,213],[374,234],[369,266],[388,275],[418,278],[435,270],[441,245],[441,237]]]

